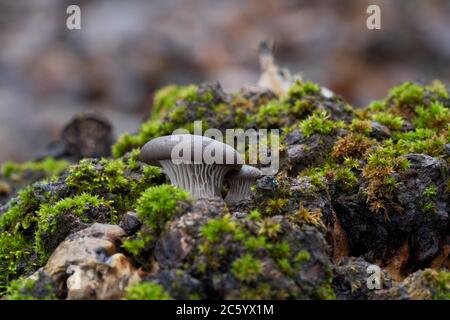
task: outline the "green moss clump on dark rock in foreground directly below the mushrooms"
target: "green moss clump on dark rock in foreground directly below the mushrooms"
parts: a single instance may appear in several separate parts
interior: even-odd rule
[[[269,268],[275,267],[282,274],[280,277],[295,279],[302,270],[307,272],[312,267],[313,260],[317,262],[317,256],[305,248],[305,243],[295,240],[303,225],[299,223],[300,228],[297,229],[295,224],[286,222],[280,217],[262,218],[258,211],[241,220],[234,220],[229,214],[208,220],[200,227],[202,241],[199,254],[194,259],[198,277],[210,279],[227,275],[225,280],[231,274],[240,286],[239,293],[235,292],[228,298],[299,297],[300,292],[295,287],[288,291],[277,289],[277,284],[263,271],[267,264]],[[295,229],[287,231],[283,229],[286,227]],[[291,238],[294,234],[297,236]]]

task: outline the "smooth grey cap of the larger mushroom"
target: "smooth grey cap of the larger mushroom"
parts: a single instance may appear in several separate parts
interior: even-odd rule
[[[190,154],[173,152],[174,148],[190,151]],[[207,164],[226,165],[239,170],[244,163],[233,147],[208,137],[191,134],[169,135],[150,140],[141,149],[141,161],[157,166],[162,160],[205,163],[204,152],[211,154],[214,160],[211,163],[206,162]]]

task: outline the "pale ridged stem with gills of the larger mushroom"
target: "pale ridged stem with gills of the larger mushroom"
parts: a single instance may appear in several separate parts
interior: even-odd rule
[[[175,164],[171,160],[159,161],[170,182],[189,191],[195,199],[222,199],[220,190],[229,167],[215,164]]]

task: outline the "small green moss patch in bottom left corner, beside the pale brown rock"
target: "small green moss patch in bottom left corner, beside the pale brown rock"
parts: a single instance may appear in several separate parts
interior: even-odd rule
[[[56,300],[55,288],[51,283],[41,287],[37,280],[23,278],[14,280],[8,286],[6,300]]]

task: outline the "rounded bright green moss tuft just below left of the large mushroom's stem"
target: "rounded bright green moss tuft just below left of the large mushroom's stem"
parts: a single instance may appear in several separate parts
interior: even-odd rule
[[[150,187],[139,198],[136,212],[143,222],[156,231],[177,212],[180,202],[186,202],[189,193],[172,185]]]

